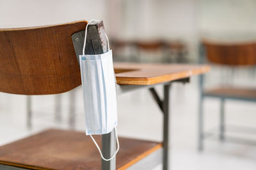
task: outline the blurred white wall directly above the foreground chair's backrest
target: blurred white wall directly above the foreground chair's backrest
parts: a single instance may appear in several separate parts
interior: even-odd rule
[[[0,0],[0,27],[29,27],[92,18],[106,20],[104,0]]]

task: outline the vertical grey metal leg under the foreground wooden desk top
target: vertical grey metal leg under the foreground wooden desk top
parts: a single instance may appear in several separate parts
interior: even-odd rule
[[[170,84],[164,85],[164,134],[163,134],[163,170],[170,169]]]

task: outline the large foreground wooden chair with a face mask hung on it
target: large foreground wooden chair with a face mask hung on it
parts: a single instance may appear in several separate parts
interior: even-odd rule
[[[84,34],[87,23],[0,29],[0,91],[22,95],[60,94],[81,85],[78,47],[72,43],[79,39],[74,39],[72,34],[79,31]],[[104,39],[99,36],[104,35],[100,34],[104,25],[95,22],[89,26],[86,53],[102,52],[104,46],[100,42]],[[100,136],[95,138],[101,143]],[[116,169],[156,166],[152,164],[152,159],[156,159],[152,153],[161,155],[161,146],[151,141],[120,138]],[[0,169],[100,169],[100,161],[97,148],[84,132],[49,129],[0,146]]]

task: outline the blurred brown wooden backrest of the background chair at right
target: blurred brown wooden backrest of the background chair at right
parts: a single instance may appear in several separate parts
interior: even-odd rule
[[[218,43],[202,41],[209,62],[229,66],[253,66],[256,64],[256,42]]]

